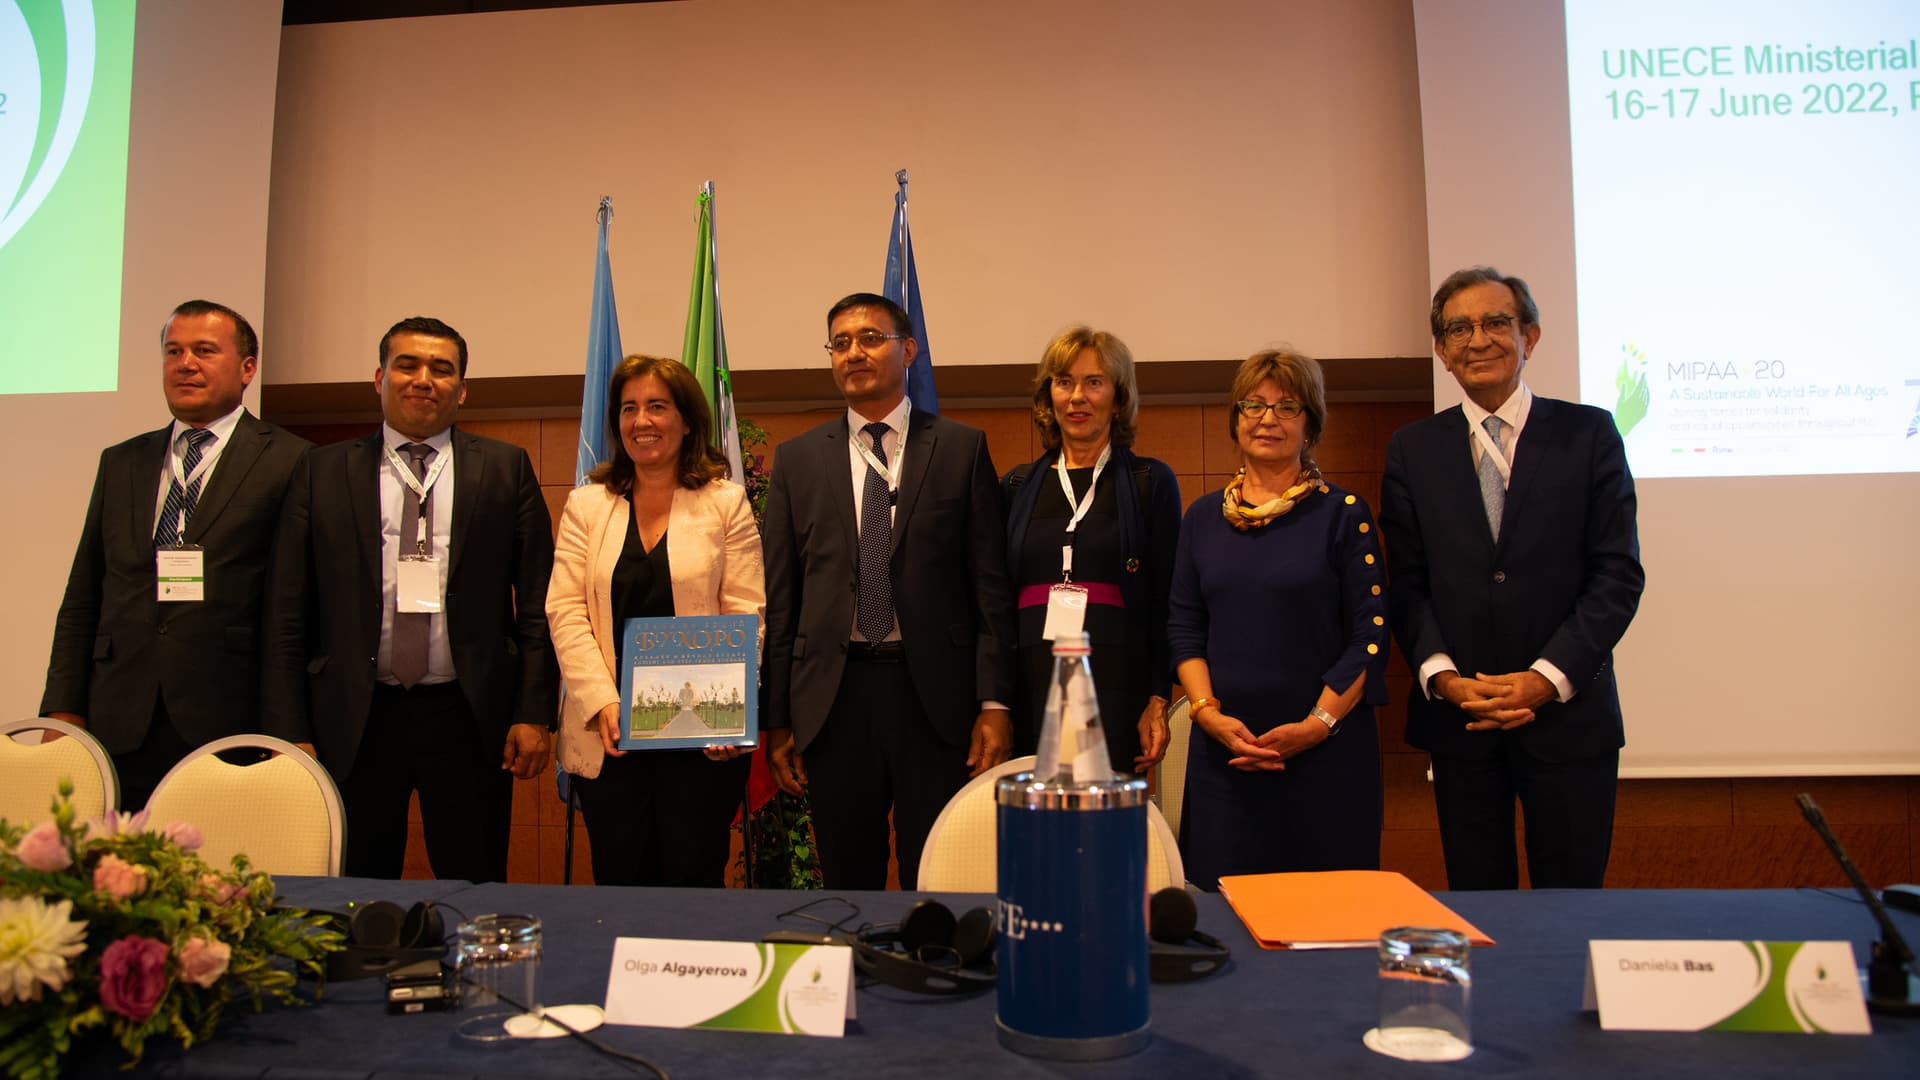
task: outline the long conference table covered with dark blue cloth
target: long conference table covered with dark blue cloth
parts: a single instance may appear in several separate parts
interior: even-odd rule
[[[647,890],[465,882],[284,878],[309,907],[438,899],[467,915],[532,913],[545,922],[545,1003],[599,1003],[614,938],[758,940],[797,928],[778,915],[822,894]],[[912,894],[845,894],[866,920],[899,919]],[[1498,944],[1473,955],[1473,1040],[1465,1061],[1411,1065],[1361,1045],[1375,1017],[1373,949],[1258,947],[1219,896],[1200,928],[1233,947],[1227,970],[1152,988],[1146,1049],[1106,1063],[1020,1057],[998,1045],[993,992],[925,997],[862,980],[845,1038],[603,1026],[595,1038],[682,1078],[743,1076],[1916,1076],[1920,1019],[1874,1017],[1872,1036],[1605,1032],[1580,1011],[1590,938],[1845,940],[1876,936],[1857,897],[1828,890],[1605,890],[1438,894]],[[941,897],[960,911],[985,896]],[[1920,940],[1920,917],[1895,913]],[[388,1015],[380,980],[332,984],[315,1007],[234,1011],[192,1051],[154,1045],[148,1076],[634,1076],[632,1065],[574,1040],[480,1047],[455,1036],[459,1013]],[[98,1049],[98,1047],[96,1047]],[[115,1065],[88,1053],[73,1074]]]

